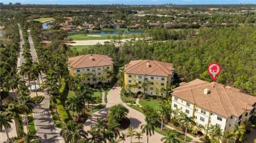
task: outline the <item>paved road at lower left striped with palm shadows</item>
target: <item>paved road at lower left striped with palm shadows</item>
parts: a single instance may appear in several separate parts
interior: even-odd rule
[[[53,117],[51,116],[51,111],[49,110],[49,95],[47,91],[43,90],[38,92],[38,95],[44,95],[45,99],[43,102],[36,104],[33,110],[33,118],[35,121],[35,129],[37,130],[37,136],[42,138],[42,142],[56,142],[61,143],[62,138],[59,135],[59,130],[56,129],[54,125]],[[31,94],[32,97],[35,97],[35,93]]]

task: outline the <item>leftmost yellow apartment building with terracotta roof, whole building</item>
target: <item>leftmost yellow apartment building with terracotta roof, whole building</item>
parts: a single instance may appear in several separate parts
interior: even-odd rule
[[[68,58],[68,71],[72,76],[92,75],[81,81],[81,84],[96,84],[110,82],[106,71],[113,71],[113,59],[106,55],[87,54]],[[104,79],[102,79],[104,77]]]

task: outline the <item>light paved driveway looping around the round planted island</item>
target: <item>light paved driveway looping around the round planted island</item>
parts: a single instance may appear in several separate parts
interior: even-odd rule
[[[123,104],[119,95],[120,91],[121,91],[121,87],[113,87],[108,92],[108,95],[107,95],[108,103],[106,105],[106,108],[99,110],[98,112],[95,112],[95,114],[93,114],[92,116],[89,117],[89,119],[87,119],[84,127],[85,131],[88,131],[91,129],[91,125],[96,123],[96,118],[101,118],[101,119],[106,118],[108,114],[108,109],[111,106],[114,106],[115,104]],[[140,112],[138,112],[137,110],[130,108],[126,104],[123,104],[123,105],[129,109],[129,114],[127,117],[131,119],[131,125],[135,127],[135,131],[138,131],[138,132],[141,131],[140,126],[145,123],[144,121],[145,116]],[[122,132],[127,134],[127,130],[124,130]],[[149,137],[149,142],[154,142],[154,143],[161,142],[162,137],[163,137],[162,135],[155,132],[155,135]],[[138,140],[135,139],[135,136],[134,136],[133,142],[137,142],[137,141]],[[126,138],[125,142],[131,142],[130,137]],[[143,135],[142,140],[140,140],[140,142],[146,142],[146,134]]]

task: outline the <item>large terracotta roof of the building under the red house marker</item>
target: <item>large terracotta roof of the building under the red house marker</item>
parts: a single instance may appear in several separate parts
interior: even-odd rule
[[[207,94],[203,93],[206,88],[209,89]],[[199,79],[181,84],[173,89],[172,95],[226,118],[239,117],[245,110],[252,110],[256,103],[256,97],[242,93],[239,89]]]

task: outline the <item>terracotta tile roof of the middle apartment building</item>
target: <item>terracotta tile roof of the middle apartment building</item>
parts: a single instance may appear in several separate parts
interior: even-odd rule
[[[172,63],[153,60],[137,60],[130,61],[129,64],[125,65],[124,71],[128,74],[169,76],[173,74],[174,70]]]

